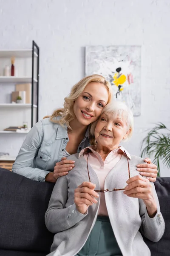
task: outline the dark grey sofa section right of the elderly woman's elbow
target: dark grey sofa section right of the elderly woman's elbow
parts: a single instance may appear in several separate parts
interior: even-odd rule
[[[157,242],[151,242],[144,238],[147,246],[151,250],[151,255],[154,256],[169,256],[170,255],[170,177],[157,178],[155,189],[159,198],[161,213],[165,221],[165,231],[162,238]]]

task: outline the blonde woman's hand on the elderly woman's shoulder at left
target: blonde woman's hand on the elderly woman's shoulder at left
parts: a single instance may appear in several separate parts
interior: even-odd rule
[[[56,163],[54,166],[54,179],[57,180],[58,177],[67,175],[69,171],[71,171],[74,168],[74,161],[72,160],[66,160],[66,157],[62,157],[61,161]]]

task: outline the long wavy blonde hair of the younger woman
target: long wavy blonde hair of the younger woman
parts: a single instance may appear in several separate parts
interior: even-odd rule
[[[50,117],[51,122],[59,123],[62,126],[66,124],[67,127],[71,130],[69,124],[71,120],[75,118],[73,111],[74,102],[82,94],[85,87],[91,82],[105,85],[106,89],[108,90],[108,103],[111,102],[112,87],[110,82],[108,82],[103,76],[100,75],[86,76],[71,88],[69,96],[65,97],[64,99],[64,108],[59,108],[55,110],[51,116],[45,116],[44,118]],[[61,119],[57,120],[57,116],[61,116]]]

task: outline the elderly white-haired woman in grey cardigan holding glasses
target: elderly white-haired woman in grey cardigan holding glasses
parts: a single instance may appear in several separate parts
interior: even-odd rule
[[[159,241],[164,219],[154,184],[136,171],[143,159],[119,145],[132,132],[131,111],[110,103],[91,126],[93,145],[69,157],[75,167],[57,180],[45,214],[56,233],[49,256],[150,256],[142,235]]]

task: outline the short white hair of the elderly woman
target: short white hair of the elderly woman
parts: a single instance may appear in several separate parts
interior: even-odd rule
[[[127,124],[127,128],[130,129],[129,134],[127,135],[127,138],[124,141],[127,141],[130,139],[133,133],[134,129],[134,119],[133,119],[133,113],[130,110],[130,108],[127,107],[127,105],[124,102],[113,100],[111,103],[105,106],[103,108],[102,113],[111,113],[113,116],[119,116],[123,120],[125,120]],[[94,131],[96,128],[98,120],[96,120],[91,125],[90,134],[91,134],[91,144],[94,144]]]

